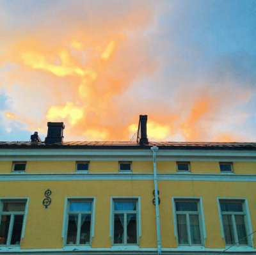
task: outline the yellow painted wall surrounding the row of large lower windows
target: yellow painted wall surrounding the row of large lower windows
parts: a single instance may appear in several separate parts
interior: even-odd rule
[[[15,187],[15,189],[13,189]],[[44,192],[52,190],[48,209],[42,205]],[[159,181],[159,206],[163,247],[177,247],[174,236],[172,197],[202,197],[207,238],[205,247],[224,248],[217,197],[246,197],[252,229],[256,229],[253,182]],[[26,181],[1,182],[0,197],[30,197],[22,249],[61,248],[65,197],[96,197],[95,237],[92,247],[111,247],[109,237],[110,198],[140,196],[140,247],[156,247],[156,215],[152,205],[153,181]]]

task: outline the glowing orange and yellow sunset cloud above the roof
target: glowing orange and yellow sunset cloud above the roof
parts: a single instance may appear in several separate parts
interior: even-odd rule
[[[64,121],[66,141],[129,141],[137,131],[138,115],[148,114],[149,139],[236,139],[218,137],[212,128],[225,120],[234,91],[214,90],[214,84],[196,84],[193,89],[186,82],[176,88],[173,81],[160,87],[159,73],[154,89],[148,85],[152,81],[143,80],[152,77],[159,64],[168,64],[159,63],[163,44],[157,51],[151,43],[150,36],[158,32],[152,33],[152,27],[157,29],[156,9],[153,2],[121,2],[115,2],[115,11],[104,1],[102,12],[81,1],[86,17],[76,10],[71,18],[61,13],[60,4],[60,13],[39,20],[36,29],[31,24],[18,27],[19,33],[10,38],[3,36],[0,85],[12,99],[10,111],[3,111],[10,126],[20,121],[29,130],[46,134],[47,121]],[[165,100],[156,98],[161,89]],[[242,102],[240,92],[236,98]]]

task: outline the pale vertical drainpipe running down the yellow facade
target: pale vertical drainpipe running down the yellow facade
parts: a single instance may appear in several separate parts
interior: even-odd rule
[[[152,146],[153,152],[153,164],[154,164],[154,186],[155,186],[155,199],[156,199],[156,233],[157,233],[157,255],[161,255],[161,231],[160,231],[160,217],[159,217],[159,205],[158,205],[158,188],[157,188],[157,173],[156,173],[156,153],[158,151],[157,146]]]

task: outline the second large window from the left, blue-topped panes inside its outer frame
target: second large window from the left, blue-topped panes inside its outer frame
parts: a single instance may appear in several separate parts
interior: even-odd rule
[[[67,245],[90,243],[92,203],[92,200],[68,200]]]

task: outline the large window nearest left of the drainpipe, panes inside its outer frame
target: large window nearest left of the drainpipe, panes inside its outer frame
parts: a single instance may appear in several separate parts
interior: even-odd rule
[[[138,201],[113,201],[113,243],[138,244]]]

